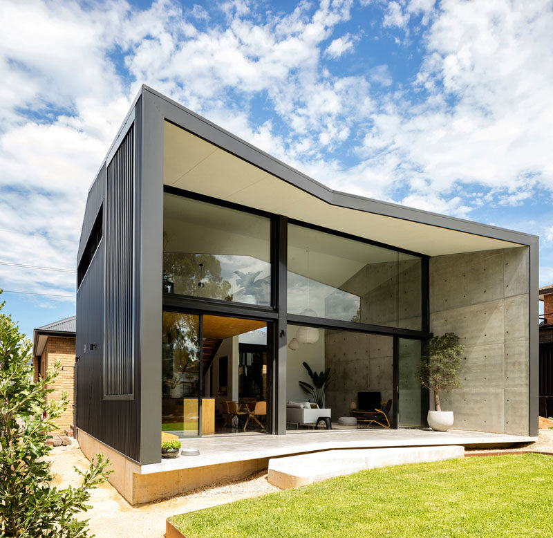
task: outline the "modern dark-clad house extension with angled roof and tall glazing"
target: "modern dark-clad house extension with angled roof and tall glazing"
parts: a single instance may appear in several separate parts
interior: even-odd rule
[[[303,362],[331,369],[330,424],[390,402],[391,429],[425,428],[416,372],[449,331],[454,428],[537,435],[537,236],[335,192],[146,86],[89,189],[77,285],[77,438],[120,492],[160,474],[161,432],[330,436],[292,420]]]

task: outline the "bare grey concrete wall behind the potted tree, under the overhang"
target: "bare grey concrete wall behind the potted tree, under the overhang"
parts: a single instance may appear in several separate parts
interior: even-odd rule
[[[431,258],[431,331],[465,345],[461,387],[440,396],[454,428],[528,435],[528,291],[527,247]]]

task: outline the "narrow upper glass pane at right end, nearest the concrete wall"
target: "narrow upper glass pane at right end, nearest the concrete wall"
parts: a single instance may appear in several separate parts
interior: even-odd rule
[[[420,258],[399,253],[398,319],[400,328],[422,328],[422,261]]]

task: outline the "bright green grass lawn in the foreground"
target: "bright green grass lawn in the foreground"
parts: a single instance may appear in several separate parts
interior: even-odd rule
[[[171,518],[187,537],[551,537],[553,456],[359,472]]]

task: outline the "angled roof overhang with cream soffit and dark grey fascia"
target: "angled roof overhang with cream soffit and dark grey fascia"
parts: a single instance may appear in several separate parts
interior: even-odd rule
[[[536,236],[333,191],[153,90],[163,183],[427,256],[529,245]],[[165,106],[161,106],[165,105]]]

